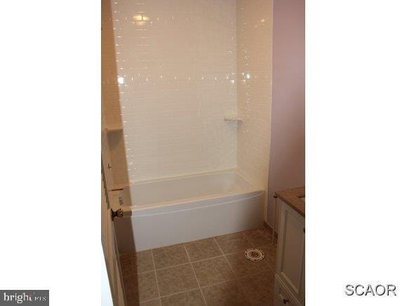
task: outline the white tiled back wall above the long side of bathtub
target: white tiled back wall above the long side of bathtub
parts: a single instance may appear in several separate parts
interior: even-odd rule
[[[236,167],[236,0],[114,0],[131,181]]]

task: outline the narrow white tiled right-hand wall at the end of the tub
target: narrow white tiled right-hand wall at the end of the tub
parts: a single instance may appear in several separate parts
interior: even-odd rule
[[[237,0],[237,165],[267,190],[272,94],[272,1]]]

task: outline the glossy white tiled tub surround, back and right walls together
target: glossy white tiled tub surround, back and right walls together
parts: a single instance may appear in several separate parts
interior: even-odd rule
[[[128,179],[237,167],[267,187],[271,1],[111,6],[117,74],[106,83],[119,87],[110,112],[121,113]]]

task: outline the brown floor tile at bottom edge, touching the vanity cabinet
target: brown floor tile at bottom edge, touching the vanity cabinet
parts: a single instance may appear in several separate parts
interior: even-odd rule
[[[252,305],[273,305],[274,275],[262,272],[240,279]]]

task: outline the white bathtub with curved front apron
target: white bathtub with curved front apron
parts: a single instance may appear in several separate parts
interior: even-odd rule
[[[236,171],[138,182],[121,194],[119,253],[261,227],[265,192]]]

